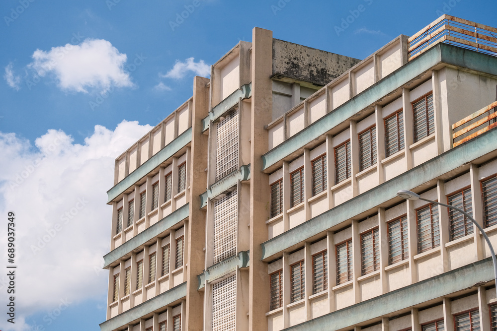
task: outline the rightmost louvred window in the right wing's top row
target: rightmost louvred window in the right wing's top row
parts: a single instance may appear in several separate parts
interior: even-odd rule
[[[433,111],[433,94],[413,103],[414,142],[435,132],[435,116]]]

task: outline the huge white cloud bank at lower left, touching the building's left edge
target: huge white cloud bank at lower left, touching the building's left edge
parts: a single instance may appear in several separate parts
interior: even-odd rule
[[[112,214],[106,191],[114,184],[114,159],[151,129],[125,121],[114,131],[95,126],[83,144],[49,130],[35,146],[0,132],[0,215],[15,212],[16,324],[11,330],[30,330],[27,321],[43,325],[26,317],[52,312],[61,300],[77,304],[105,295],[108,271],[102,269],[102,256],[110,248]],[[5,231],[0,243],[7,243]],[[1,251],[2,261],[6,254]],[[2,273],[1,293],[7,281]],[[6,300],[0,296],[1,307]]]

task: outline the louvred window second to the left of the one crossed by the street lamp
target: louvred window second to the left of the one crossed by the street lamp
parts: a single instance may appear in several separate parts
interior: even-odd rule
[[[409,258],[407,216],[388,223],[388,264],[393,265]]]

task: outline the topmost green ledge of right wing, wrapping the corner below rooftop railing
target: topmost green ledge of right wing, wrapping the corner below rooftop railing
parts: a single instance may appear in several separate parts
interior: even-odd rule
[[[262,155],[262,171],[439,63],[497,75],[496,57],[453,45],[438,44]]]

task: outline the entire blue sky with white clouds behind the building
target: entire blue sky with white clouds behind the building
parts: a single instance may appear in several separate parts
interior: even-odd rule
[[[254,26],[359,59],[443,13],[497,26],[495,0],[3,0],[0,13],[2,331],[99,330],[115,157]],[[7,265],[17,266],[15,324]]]

